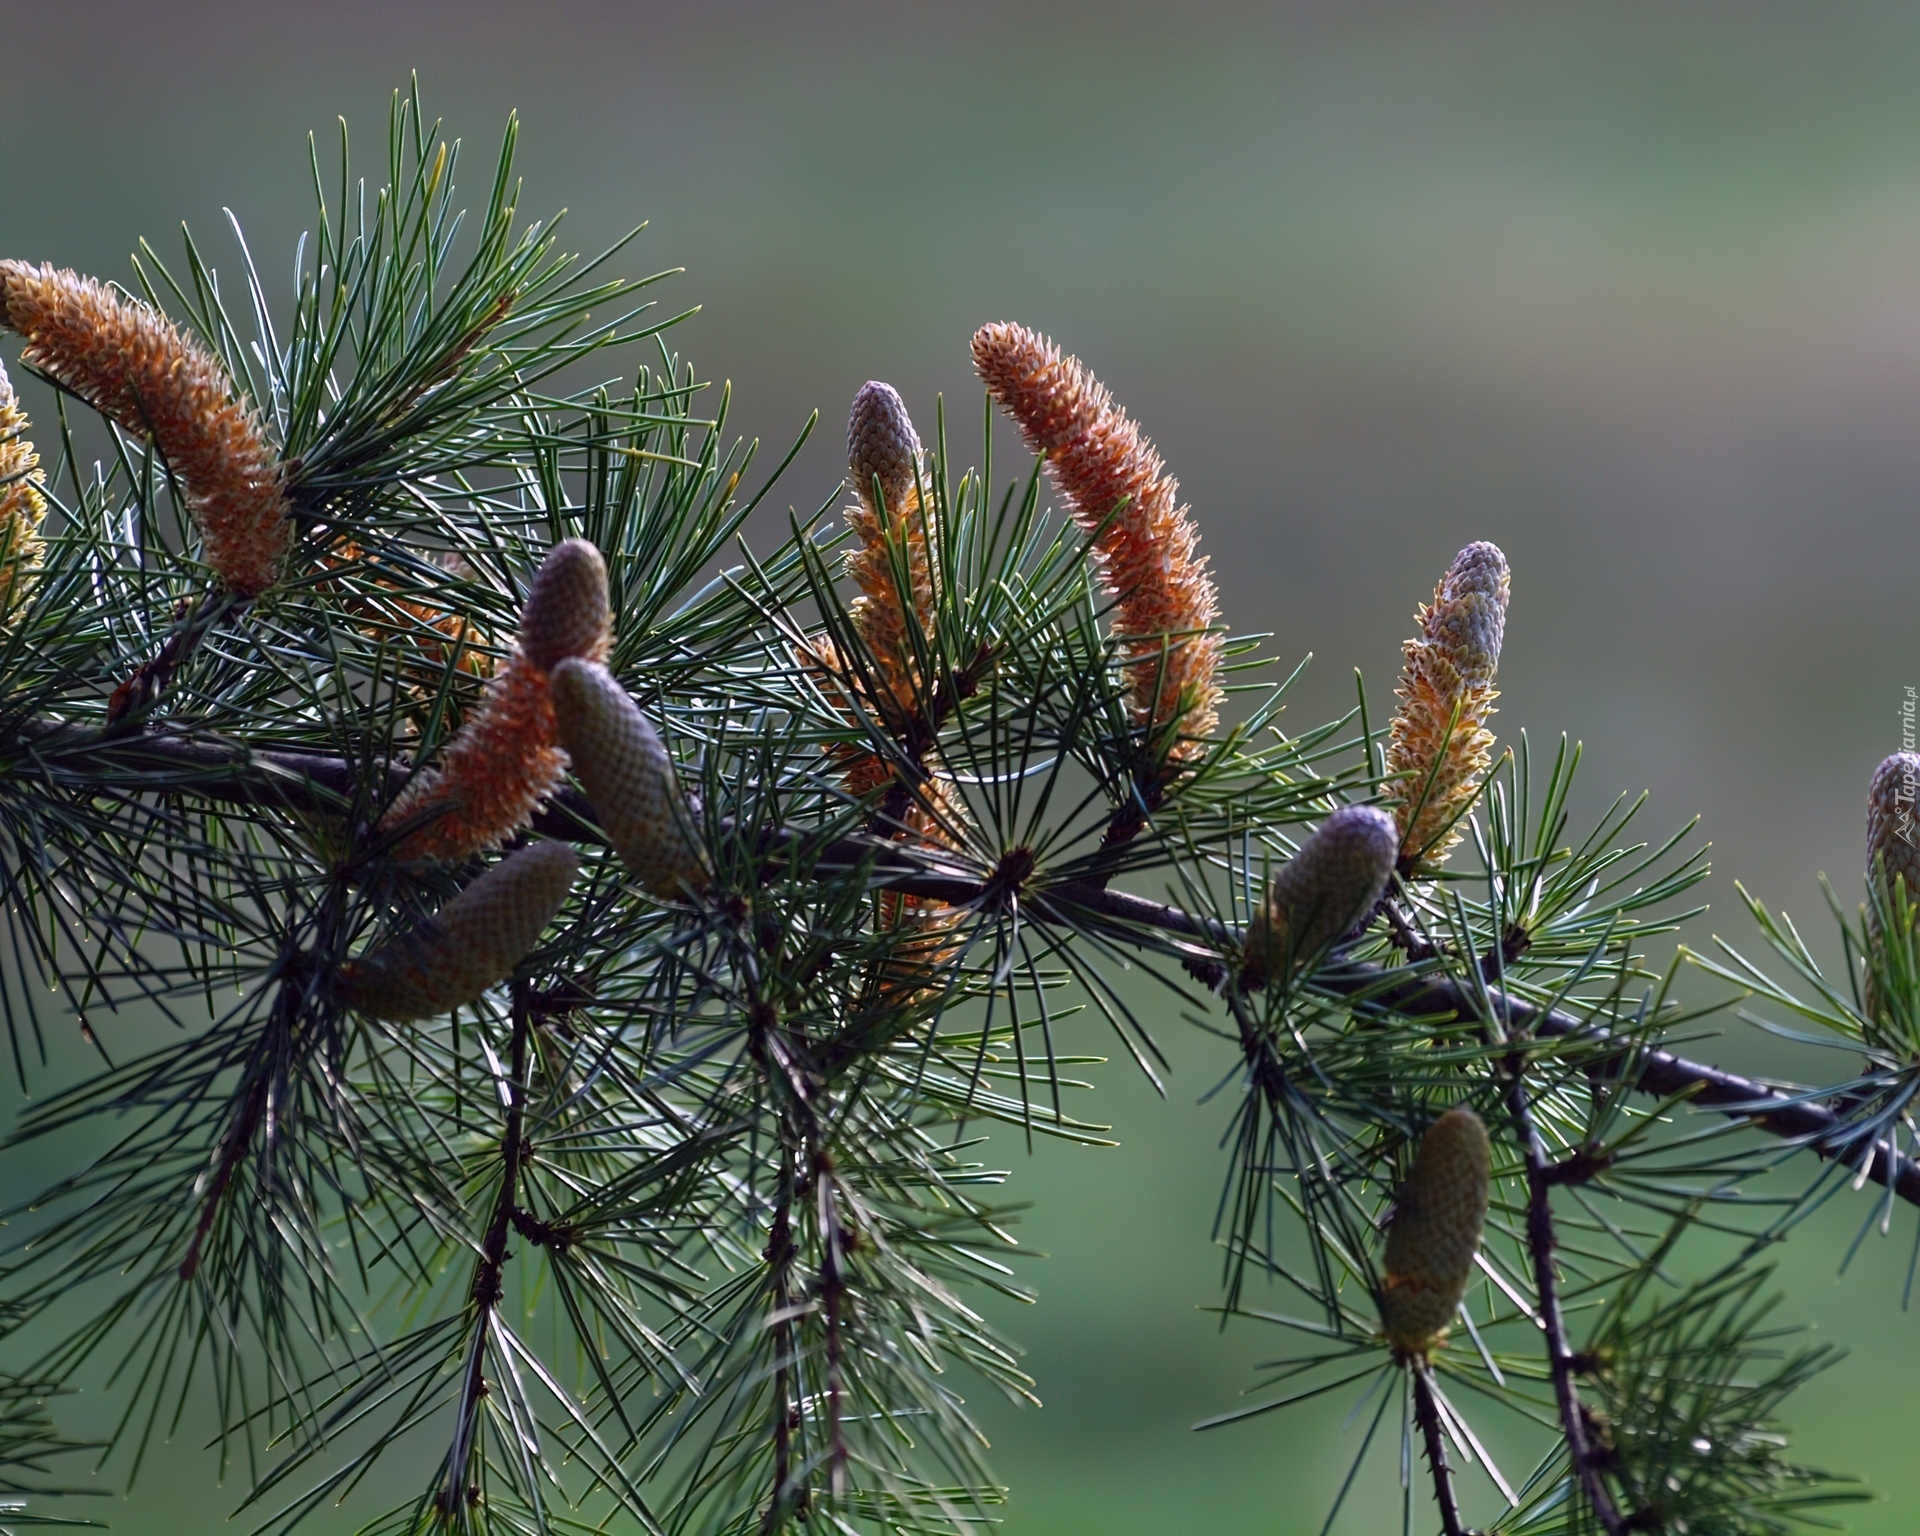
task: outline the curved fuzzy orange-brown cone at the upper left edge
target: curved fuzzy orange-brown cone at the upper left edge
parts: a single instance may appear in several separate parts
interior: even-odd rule
[[[29,261],[0,261],[0,326],[27,338],[25,363],[154,440],[227,588],[273,586],[292,538],[280,461],[198,338],[104,282]]]

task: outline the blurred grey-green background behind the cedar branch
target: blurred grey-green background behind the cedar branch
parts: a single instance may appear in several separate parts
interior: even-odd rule
[[[330,154],[346,115],[371,163],[419,69],[474,196],[518,109],[522,211],[570,207],[576,248],[651,221],[626,269],[687,269],[676,344],[743,432],[780,449],[820,409],[781,507],[839,478],[866,378],[924,426],[945,392],[975,455],[968,336],[1023,321],[1146,424],[1233,624],[1315,653],[1300,724],[1354,666],[1384,695],[1415,603],[1490,538],[1498,724],[1584,739],[1586,812],[1642,787],[1649,829],[1699,812],[1695,943],[1747,941],[1734,877],[1822,939],[1814,874],[1857,899],[1866,778],[1920,684],[1920,8],[0,0],[0,36],[4,255],[125,278],[186,219],[232,271],[230,207],[284,280],[305,132]],[[1225,1062],[1162,1014],[1165,1102],[1100,1073],[1117,1150],[996,1146],[1050,1256],[1041,1304],[995,1311],[1046,1400],[985,1409],[1010,1536],[1313,1532],[1354,1438],[1340,1411],[1187,1430],[1277,1340],[1196,1311]],[[1839,1281],[1860,1213],[1786,1260],[1786,1315],[1855,1350],[1797,1444],[1887,1494],[1857,1530],[1910,1532],[1912,1213]],[[100,1513],[207,1530],[213,1476],[182,1430]],[[1394,1480],[1377,1455],[1344,1528],[1388,1528]]]

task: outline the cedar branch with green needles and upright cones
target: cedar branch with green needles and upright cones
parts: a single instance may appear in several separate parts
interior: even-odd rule
[[[870,386],[849,526],[808,488],[749,547],[785,465],[728,440],[626,242],[576,261],[522,221],[513,140],[465,219],[417,96],[371,182],[315,152],[288,301],[194,244],[79,290],[192,359],[165,401],[111,338],[81,372],[21,353],[0,1004],[35,1089],[10,1146],[67,1162],[0,1250],[10,1519],[84,1513],[63,1390],[108,1394],[92,1453],[132,1480],[211,1386],[261,1532],[342,1500],[380,1536],[983,1530],[966,1394],[1031,1382],[970,1300],[1020,1294],[973,1131],[1100,1140],[1073,1068],[1117,1041],[1152,1073],[1183,1020],[1231,1073],[1221,1309],[1288,1340],[1208,1427],[1348,1411],[1327,1528],[1396,1467],[1405,1530],[1448,1536],[1782,1532],[1860,1498],[1788,1452],[1830,1359],[1782,1342],[1763,1256],[1851,1188],[1862,1235],[1920,1200],[1910,787],[1876,781],[1843,970],[1757,900],[1784,979],[1651,960],[1705,864],[1638,803],[1571,828],[1578,749],[1494,751],[1505,557],[1442,580],[1396,720],[1361,693],[1286,732],[1290,680],[1217,622],[1204,513],[1020,326],[973,342],[977,468]],[[1012,472],[995,401],[1039,449]],[[240,578],[207,524],[236,422],[225,468],[284,515]],[[584,637],[530,657],[555,547],[603,557],[612,628],[593,574]],[[538,756],[526,804],[436,839],[465,804],[436,764],[501,718],[478,678],[545,720],[549,666],[582,787],[559,726],[507,732],[474,772]],[[384,1006],[394,956],[459,975]],[[1682,960],[1851,1075],[1665,1052]],[[42,1081],[54,1029],[98,1069]],[[424,1471],[380,1513],[384,1459]]]

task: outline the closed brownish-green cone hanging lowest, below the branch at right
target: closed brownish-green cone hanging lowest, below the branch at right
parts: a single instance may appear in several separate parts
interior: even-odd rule
[[[1494,1154],[1465,1104],[1427,1127],[1386,1229],[1380,1323],[1394,1354],[1425,1359],[1444,1338],[1473,1279],[1486,1227]]]

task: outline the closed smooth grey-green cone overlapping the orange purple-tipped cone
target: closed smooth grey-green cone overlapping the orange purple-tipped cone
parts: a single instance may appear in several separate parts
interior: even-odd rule
[[[657,897],[707,885],[674,760],[618,680],[595,660],[563,660],[547,684],[561,745],[620,862]]]

